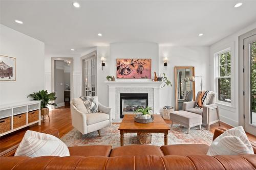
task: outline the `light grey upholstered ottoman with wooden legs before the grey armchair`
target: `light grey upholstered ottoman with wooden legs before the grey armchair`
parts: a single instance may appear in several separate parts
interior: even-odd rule
[[[189,133],[190,128],[194,126],[199,126],[201,130],[202,116],[199,114],[179,110],[170,113],[170,119],[172,120],[172,127],[173,122],[179,123],[188,128],[187,133]]]

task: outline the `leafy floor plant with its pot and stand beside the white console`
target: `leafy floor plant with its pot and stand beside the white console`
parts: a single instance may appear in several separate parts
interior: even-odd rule
[[[55,101],[57,97],[55,96],[55,92],[48,93],[47,90],[41,90],[38,92],[34,92],[33,94],[29,94],[28,97],[33,98],[33,101],[41,101],[41,116],[43,122],[45,122],[45,117],[49,116],[49,108],[48,105],[57,106],[56,103],[51,103],[51,101]]]

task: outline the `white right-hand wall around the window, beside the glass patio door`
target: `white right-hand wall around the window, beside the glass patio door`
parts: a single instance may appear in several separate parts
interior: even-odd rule
[[[210,85],[211,85],[211,89],[214,90],[215,89],[215,83],[214,83],[214,54],[217,53],[220,50],[224,50],[225,48],[227,48],[228,46],[231,45],[231,52],[233,52],[233,54],[231,54],[231,57],[233,58],[233,79],[231,80],[234,82],[233,84],[233,88],[231,90],[233,90],[233,104],[232,106],[226,106],[226,105],[221,105],[219,104],[219,110],[220,110],[220,118],[223,122],[231,125],[231,126],[238,126],[239,125],[239,81],[243,81],[243,80],[239,80],[239,36],[247,33],[253,29],[256,28],[256,22],[253,23],[252,25],[232,34],[229,35],[227,37],[225,37],[224,39],[212,44],[210,46]],[[233,45],[232,45],[233,44]],[[232,62],[231,61],[231,62]],[[231,63],[232,64],[232,63]],[[232,69],[232,68],[231,68]],[[232,71],[232,70],[231,70]],[[231,92],[232,93],[232,92]]]

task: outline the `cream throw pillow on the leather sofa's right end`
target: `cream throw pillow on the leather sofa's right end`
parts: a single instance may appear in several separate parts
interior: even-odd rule
[[[211,143],[207,152],[209,156],[238,154],[254,154],[252,145],[242,126],[229,129],[218,136]]]

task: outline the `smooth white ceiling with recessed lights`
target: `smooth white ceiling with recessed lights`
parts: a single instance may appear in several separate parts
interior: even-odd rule
[[[1,1],[1,23],[45,42],[46,54],[70,55],[112,42],[211,45],[256,21],[256,1],[72,2]]]

